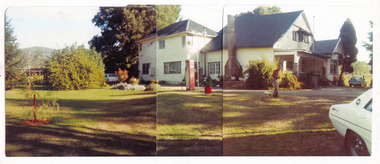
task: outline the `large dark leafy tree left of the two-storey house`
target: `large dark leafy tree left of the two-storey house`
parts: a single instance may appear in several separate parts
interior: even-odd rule
[[[137,76],[136,41],[156,30],[152,6],[101,7],[92,22],[101,29],[101,35],[94,36],[90,45],[102,54],[106,72],[121,68]]]

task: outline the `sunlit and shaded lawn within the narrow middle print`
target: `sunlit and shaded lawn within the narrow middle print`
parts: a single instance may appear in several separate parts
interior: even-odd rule
[[[161,90],[157,101],[157,155],[223,155],[221,92]]]

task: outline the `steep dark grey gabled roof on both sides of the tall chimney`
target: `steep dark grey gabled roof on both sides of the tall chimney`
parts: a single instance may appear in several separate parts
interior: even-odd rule
[[[235,17],[236,48],[273,47],[290,29],[302,12]],[[224,30],[226,30],[226,27],[224,27]],[[223,35],[223,29],[218,34],[216,38],[206,45],[207,51],[222,49],[222,38],[223,48],[227,48],[228,39],[226,35]]]

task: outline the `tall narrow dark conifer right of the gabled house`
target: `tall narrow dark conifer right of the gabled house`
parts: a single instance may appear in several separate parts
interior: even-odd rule
[[[355,47],[357,42],[356,31],[350,18],[347,18],[344,22],[340,29],[339,37],[342,41],[344,53],[344,56],[339,56],[339,64],[342,66],[339,80],[343,81],[342,76],[344,72],[352,73],[354,71],[351,64],[356,61],[356,55],[358,54],[358,49]]]

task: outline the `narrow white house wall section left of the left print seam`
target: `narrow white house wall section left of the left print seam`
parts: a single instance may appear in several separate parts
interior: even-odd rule
[[[156,80],[156,62],[157,62],[157,42],[156,40],[149,39],[141,43],[142,50],[139,50],[139,79]],[[142,74],[143,64],[150,63],[149,74]]]

